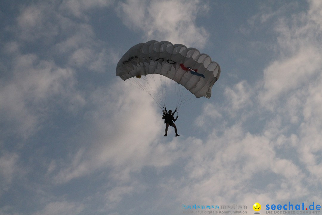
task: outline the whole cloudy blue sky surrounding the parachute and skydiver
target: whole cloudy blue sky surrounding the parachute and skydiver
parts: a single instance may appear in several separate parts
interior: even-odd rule
[[[320,0],[2,1],[0,20],[0,215],[322,204]],[[221,66],[180,137],[115,75],[149,40]]]

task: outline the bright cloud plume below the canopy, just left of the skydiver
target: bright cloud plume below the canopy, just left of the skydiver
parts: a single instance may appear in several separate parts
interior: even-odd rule
[[[147,93],[118,80],[108,88],[94,91],[90,103],[95,111],[86,115],[92,128],[87,140],[90,142],[86,145],[90,144],[91,148],[73,156],[70,164],[55,177],[57,183],[86,175],[107,164],[117,169],[125,165],[130,167],[125,169],[136,171],[142,165],[163,166],[171,162],[157,155],[165,155],[163,147],[151,145],[158,142],[156,131],[160,130],[162,120]],[[155,157],[150,157],[150,153]]]

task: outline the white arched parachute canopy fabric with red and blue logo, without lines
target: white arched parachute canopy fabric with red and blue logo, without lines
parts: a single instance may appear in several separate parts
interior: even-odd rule
[[[148,74],[163,75],[182,85],[196,98],[210,98],[213,84],[220,75],[220,66],[195,48],[152,40],[130,48],[116,67],[116,75],[125,81]]]

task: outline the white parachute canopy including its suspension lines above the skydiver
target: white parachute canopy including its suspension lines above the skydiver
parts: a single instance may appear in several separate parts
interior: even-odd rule
[[[220,66],[195,48],[152,40],[130,48],[119,60],[116,75],[149,93],[161,109],[170,90],[178,110],[192,98],[211,97]]]

